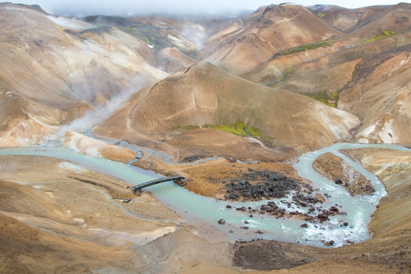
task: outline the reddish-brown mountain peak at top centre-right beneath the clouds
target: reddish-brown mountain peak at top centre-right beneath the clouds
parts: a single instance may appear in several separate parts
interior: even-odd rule
[[[215,34],[199,57],[231,73],[243,74],[266,63],[278,51],[332,35],[341,32],[303,6],[271,5]]]

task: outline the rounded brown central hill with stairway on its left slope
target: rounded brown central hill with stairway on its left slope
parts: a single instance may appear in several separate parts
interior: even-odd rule
[[[208,63],[185,71],[164,79],[134,109],[130,122],[130,128],[134,131],[123,126],[128,123],[125,119],[128,115],[124,114],[129,113],[130,107],[136,104],[129,102],[96,127],[94,133],[152,147],[159,143],[161,147],[178,147],[177,140],[185,140],[184,145],[189,146],[190,142],[195,143],[196,139],[201,138],[201,134],[218,135],[219,131],[213,128],[224,128],[224,125],[240,121],[247,129],[261,132],[261,140],[275,139],[276,149],[287,148],[289,151],[298,148],[306,151],[345,138],[349,128],[359,124],[356,116],[347,112],[306,96],[254,84]],[[137,96],[130,100],[141,101]],[[205,129],[167,135],[172,128],[190,127]],[[197,134],[197,131],[202,133]],[[240,135],[238,126],[237,131]],[[237,139],[237,135],[231,134],[232,139]],[[190,136],[190,141],[181,136]],[[230,138],[230,134],[224,136]]]

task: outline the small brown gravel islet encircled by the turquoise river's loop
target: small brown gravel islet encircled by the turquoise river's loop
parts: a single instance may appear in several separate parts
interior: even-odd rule
[[[342,179],[343,184],[341,186],[352,196],[366,195],[375,191],[371,183],[365,179],[364,175],[353,169],[339,156],[330,152],[319,156],[319,158],[312,163],[312,167],[316,172],[319,172],[333,182],[337,179]],[[367,188],[369,189],[367,190]]]

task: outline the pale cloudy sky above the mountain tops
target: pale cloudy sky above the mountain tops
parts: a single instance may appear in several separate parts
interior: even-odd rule
[[[192,13],[224,10],[256,10],[260,6],[281,4],[286,0],[22,0],[28,5],[38,4],[45,11],[55,15],[124,15],[127,13]],[[345,8],[360,8],[374,5],[395,5],[395,0],[298,0],[293,2],[303,6],[315,4],[338,5]]]

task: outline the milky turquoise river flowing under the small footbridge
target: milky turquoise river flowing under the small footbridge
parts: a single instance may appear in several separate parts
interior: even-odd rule
[[[225,239],[225,240],[251,240],[256,238],[264,238],[265,240],[277,240],[290,243],[300,243],[312,246],[324,246],[322,240],[333,240],[334,247],[342,246],[345,240],[349,239],[356,243],[368,240],[371,238],[367,224],[370,222],[370,216],[376,209],[376,205],[380,199],[386,195],[384,185],[379,181],[375,174],[366,170],[361,164],[350,160],[347,156],[339,152],[342,148],[362,148],[362,147],[379,147],[390,148],[397,150],[410,150],[398,145],[390,144],[347,144],[340,143],[332,146],[303,154],[297,163],[293,164],[298,174],[313,182],[313,188],[319,188],[320,191],[314,193],[328,193],[331,196],[323,205],[323,208],[328,209],[335,204],[338,204],[340,211],[346,212],[347,216],[330,216],[330,221],[323,224],[308,224],[308,228],[300,228],[300,225],[305,223],[302,220],[294,218],[279,218],[253,214],[249,217],[249,213],[238,211],[235,207],[251,206],[256,208],[262,204],[267,204],[268,201],[259,202],[227,202],[217,201],[212,198],[202,197],[201,195],[192,193],[172,182],[163,183],[147,187],[146,190],[153,195],[164,205],[176,211],[186,222],[198,228],[198,233],[206,239]],[[367,180],[371,181],[376,192],[373,195],[364,195],[351,197],[349,193],[341,186],[335,185],[334,182],[324,178],[312,168],[313,161],[320,155],[331,152],[343,160],[350,166],[362,173]],[[1,148],[0,155],[42,155],[50,156],[59,159],[68,160],[78,163],[80,166],[90,170],[104,173],[122,179],[131,185],[141,184],[147,181],[163,178],[161,174],[156,174],[152,171],[143,170],[127,164],[110,161],[102,158],[95,158],[74,152],[67,148],[53,146],[34,146],[34,147],[12,147]],[[252,167],[252,166],[251,166]],[[303,209],[294,208],[292,204],[287,208],[286,204],[281,200],[291,201],[291,195],[287,199],[273,199],[280,208],[285,208],[287,212]],[[228,209],[226,205],[230,203],[233,208]],[[316,204],[320,206],[320,204]],[[312,214],[314,216],[314,214]],[[226,224],[219,225],[217,221],[225,219]],[[244,226],[244,221],[248,221],[249,229],[241,229]],[[341,226],[343,222],[348,222],[349,226]],[[136,224],[138,225],[138,223]],[[264,234],[255,233],[261,229]],[[229,232],[233,230],[234,232]]]

